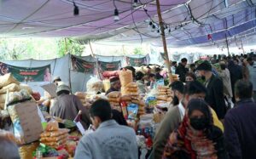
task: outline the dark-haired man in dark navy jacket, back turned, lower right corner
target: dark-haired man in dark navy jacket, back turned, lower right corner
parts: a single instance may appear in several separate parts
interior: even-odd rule
[[[253,101],[253,84],[238,81],[235,85],[236,107],[224,118],[224,137],[230,159],[256,157],[256,104]]]

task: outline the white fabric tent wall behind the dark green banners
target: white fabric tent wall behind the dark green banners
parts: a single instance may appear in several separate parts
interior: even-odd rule
[[[96,56],[96,58],[92,56],[84,56],[77,57],[82,60],[96,62],[97,60],[112,62],[116,60],[121,60],[121,65],[125,66],[125,56]],[[132,56],[136,57],[136,56]],[[144,57],[144,56],[143,56]],[[147,55],[147,59],[149,57]],[[67,54],[64,57],[54,59],[54,60],[5,60],[1,61],[8,65],[15,65],[20,67],[41,67],[44,65],[50,65],[52,79],[56,76],[61,77],[61,80],[67,85],[71,86],[72,93],[78,91],[86,91],[86,83],[90,79],[90,76],[94,76],[93,74],[85,74],[83,72],[72,71],[71,70],[71,55]],[[96,75],[97,76],[97,75]],[[29,86],[34,91],[38,91],[40,94],[44,94],[44,89],[40,86],[47,84],[49,82],[27,82]]]

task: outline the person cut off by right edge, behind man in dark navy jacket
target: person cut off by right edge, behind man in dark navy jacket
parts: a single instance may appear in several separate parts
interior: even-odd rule
[[[256,62],[252,57],[247,58],[247,69],[249,72],[249,81],[253,83],[253,99],[256,100]]]

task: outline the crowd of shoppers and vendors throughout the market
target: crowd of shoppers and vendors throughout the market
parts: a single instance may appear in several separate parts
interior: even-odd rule
[[[178,64],[172,62],[172,71],[180,81],[169,85],[172,103],[154,135],[148,158],[255,158],[255,55],[214,55],[210,60],[198,60],[189,66],[187,63],[185,58]],[[154,88],[154,82],[165,78],[160,67],[147,74],[132,67],[126,69],[133,71],[140,94],[146,94]],[[134,129],[128,127],[122,113],[112,110],[108,100],[97,99],[88,110],[70,94],[67,85],[60,84],[60,77],[54,82],[57,97],[49,113],[70,119],[80,110],[84,128],[92,124],[96,129],[80,139],[75,159],[139,158]],[[110,82],[106,94],[120,90],[118,77]],[[0,147],[7,142],[0,141]]]

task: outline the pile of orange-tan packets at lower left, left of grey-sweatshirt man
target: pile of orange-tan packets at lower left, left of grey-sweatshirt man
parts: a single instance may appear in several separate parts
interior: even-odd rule
[[[49,122],[44,133],[41,133],[40,142],[52,148],[66,145],[68,137],[67,128],[59,128],[58,122]]]

